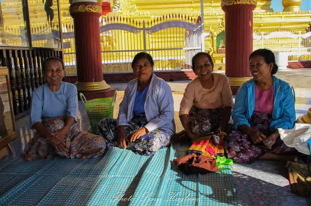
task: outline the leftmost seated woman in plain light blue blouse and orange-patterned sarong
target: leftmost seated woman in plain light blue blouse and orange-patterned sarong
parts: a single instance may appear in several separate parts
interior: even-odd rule
[[[102,137],[80,131],[77,87],[62,82],[64,70],[63,61],[56,57],[42,63],[46,83],[32,92],[30,128],[36,134],[25,147],[26,160],[53,154],[85,159],[104,152]]]

